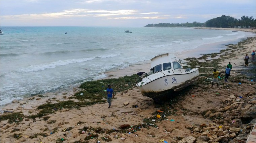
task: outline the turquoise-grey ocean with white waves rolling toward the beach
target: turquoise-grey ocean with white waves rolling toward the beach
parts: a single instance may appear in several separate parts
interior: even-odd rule
[[[126,29],[132,33],[125,33]],[[106,71],[148,63],[158,54],[174,53],[179,57],[183,51],[206,44],[209,53],[218,52],[225,44],[255,35],[231,30],[150,27],[2,27],[2,30],[0,105],[101,79],[106,77]]]

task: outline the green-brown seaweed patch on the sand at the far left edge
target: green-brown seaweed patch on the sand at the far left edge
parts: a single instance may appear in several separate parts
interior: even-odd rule
[[[0,121],[5,121],[5,120],[9,119],[9,121],[8,121],[9,124],[19,123],[19,122],[23,121],[24,117],[25,116],[23,114],[21,114],[21,112],[6,113],[6,114],[0,116]]]

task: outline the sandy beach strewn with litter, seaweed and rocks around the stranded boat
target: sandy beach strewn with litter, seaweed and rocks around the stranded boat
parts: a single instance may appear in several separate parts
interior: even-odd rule
[[[251,29],[218,29],[254,32]],[[13,101],[2,108],[3,111],[13,113],[1,114],[0,142],[244,142],[248,136],[247,131],[251,129],[244,120],[256,118],[256,65],[255,62],[250,62],[245,67],[243,59],[245,54],[250,56],[252,50],[256,50],[256,37],[244,40],[236,45],[227,45],[228,50],[213,58],[208,55],[206,58],[199,58],[199,61],[187,61],[188,66],[193,66],[193,62],[196,62],[195,67],[199,67],[197,64],[204,64],[199,69],[199,80],[175,93],[172,99],[161,105],[142,96],[134,83],[127,85],[131,88],[117,92],[110,109],[107,108],[105,98],[97,98],[95,103],[93,99],[76,98],[78,94],[89,90],[78,87]],[[211,63],[213,60],[216,65]],[[233,65],[229,82],[224,81],[222,73],[220,87],[214,85],[211,88],[211,82],[207,78],[212,78],[213,68],[224,72],[228,62]],[[106,79],[118,78],[140,71],[148,72],[149,68],[150,64],[133,65],[105,74],[108,76]],[[100,85],[99,88],[105,88],[106,84],[102,83],[102,86],[104,87]],[[115,91],[116,88],[113,87]],[[98,94],[94,96],[101,98]],[[126,101],[129,101],[128,105],[124,105]],[[74,102],[79,104],[61,104]],[[44,108],[40,106],[42,104],[51,104],[51,112],[40,112]],[[157,112],[159,110],[163,112]],[[161,115],[160,119],[156,118],[158,114]],[[124,124],[128,124],[128,127],[121,129],[120,126]],[[85,134],[82,134],[83,130]]]

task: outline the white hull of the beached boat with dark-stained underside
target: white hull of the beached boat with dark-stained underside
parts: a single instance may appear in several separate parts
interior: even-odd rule
[[[198,79],[198,75],[198,69],[186,74],[164,75],[145,85],[137,84],[137,87],[143,96],[157,99],[163,96],[171,96],[172,91],[179,91],[193,84]]]

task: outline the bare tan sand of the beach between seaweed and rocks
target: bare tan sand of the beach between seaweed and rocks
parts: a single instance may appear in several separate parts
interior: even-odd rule
[[[228,62],[233,65],[232,73],[230,78],[240,75],[242,73],[247,73],[248,69],[253,68],[252,64],[249,67],[244,67],[244,55],[251,54],[252,50],[256,50],[256,40],[254,39],[250,44],[242,45],[246,47],[243,51],[235,51],[232,58],[227,58],[222,63],[222,67],[219,70],[224,70],[224,67]],[[107,78],[118,78],[124,75],[132,75],[139,71],[148,71],[150,64],[134,65],[126,69],[122,69],[116,72],[108,72],[107,75],[113,75]],[[243,80],[243,79],[242,79]],[[214,85],[211,88],[211,83],[208,85],[200,85],[198,87],[188,88],[181,92],[180,96],[175,98],[176,103],[170,105],[168,102],[165,103],[169,105],[170,112],[175,111],[175,115],[168,116],[168,120],[156,121],[156,127],[141,128],[140,131],[135,133],[111,133],[110,135],[103,133],[99,134],[99,138],[91,139],[90,142],[96,142],[98,140],[101,143],[105,141],[102,137],[108,136],[112,139],[111,143],[156,143],[159,140],[164,139],[168,143],[178,142],[179,137],[185,138],[188,136],[199,137],[200,133],[192,132],[189,126],[199,126],[202,123],[214,123],[213,120],[205,119],[202,117],[201,112],[205,110],[215,109],[217,106],[223,105],[223,100],[225,100],[230,94],[243,96],[248,91],[254,91],[256,88],[255,82],[248,80],[244,81],[245,84],[237,86],[236,82],[221,83],[220,87]],[[224,86],[229,86],[230,88],[224,88]],[[112,106],[108,109],[108,103],[94,104],[92,106],[82,107],[81,109],[63,109],[50,114],[49,119],[44,121],[42,118],[28,119],[27,116],[36,114],[39,112],[37,106],[43,103],[52,102],[57,103],[58,101],[73,100],[77,99],[67,99],[74,95],[74,93],[81,91],[76,87],[76,89],[59,90],[56,92],[43,94],[44,97],[29,97],[20,101],[13,101],[13,103],[8,104],[2,108],[2,110],[8,110],[13,112],[22,112],[25,118],[19,124],[12,123],[9,124],[7,121],[0,122],[0,142],[2,143],[20,143],[20,142],[42,142],[50,143],[56,142],[58,138],[64,138],[63,142],[71,143],[79,140],[83,140],[87,137],[86,134],[79,134],[79,129],[84,126],[97,128],[101,127],[103,129],[118,129],[122,124],[137,125],[143,123],[143,118],[150,118],[152,113],[159,110],[159,105],[155,104],[154,101],[149,97],[144,97],[141,95],[137,88],[128,90],[127,93],[117,93],[115,98],[112,100]],[[115,90],[115,89],[114,89]],[[216,92],[219,95],[216,95]],[[65,94],[67,93],[67,94]],[[63,96],[66,96],[63,98]],[[124,105],[123,102],[129,101],[128,105]],[[138,105],[137,108],[133,108],[132,105]],[[132,114],[127,114],[132,113]],[[6,114],[6,113],[4,113]],[[135,114],[135,115],[134,115]],[[1,114],[3,115],[3,114]],[[174,122],[169,120],[173,119]],[[51,120],[56,120],[55,123],[49,124],[47,122]],[[77,124],[78,122],[84,122]],[[50,134],[54,128],[58,129],[54,134]],[[70,131],[62,131],[63,129],[73,127]],[[17,130],[12,132],[13,130]],[[20,134],[22,136],[19,139],[13,138],[13,134]],[[35,135],[36,133],[46,133],[48,136],[38,136],[30,139],[29,136]],[[63,134],[66,134],[65,136]],[[126,139],[120,139],[124,134]],[[115,136],[118,135],[118,138]],[[151,137],[153,136],[153,137]]]

